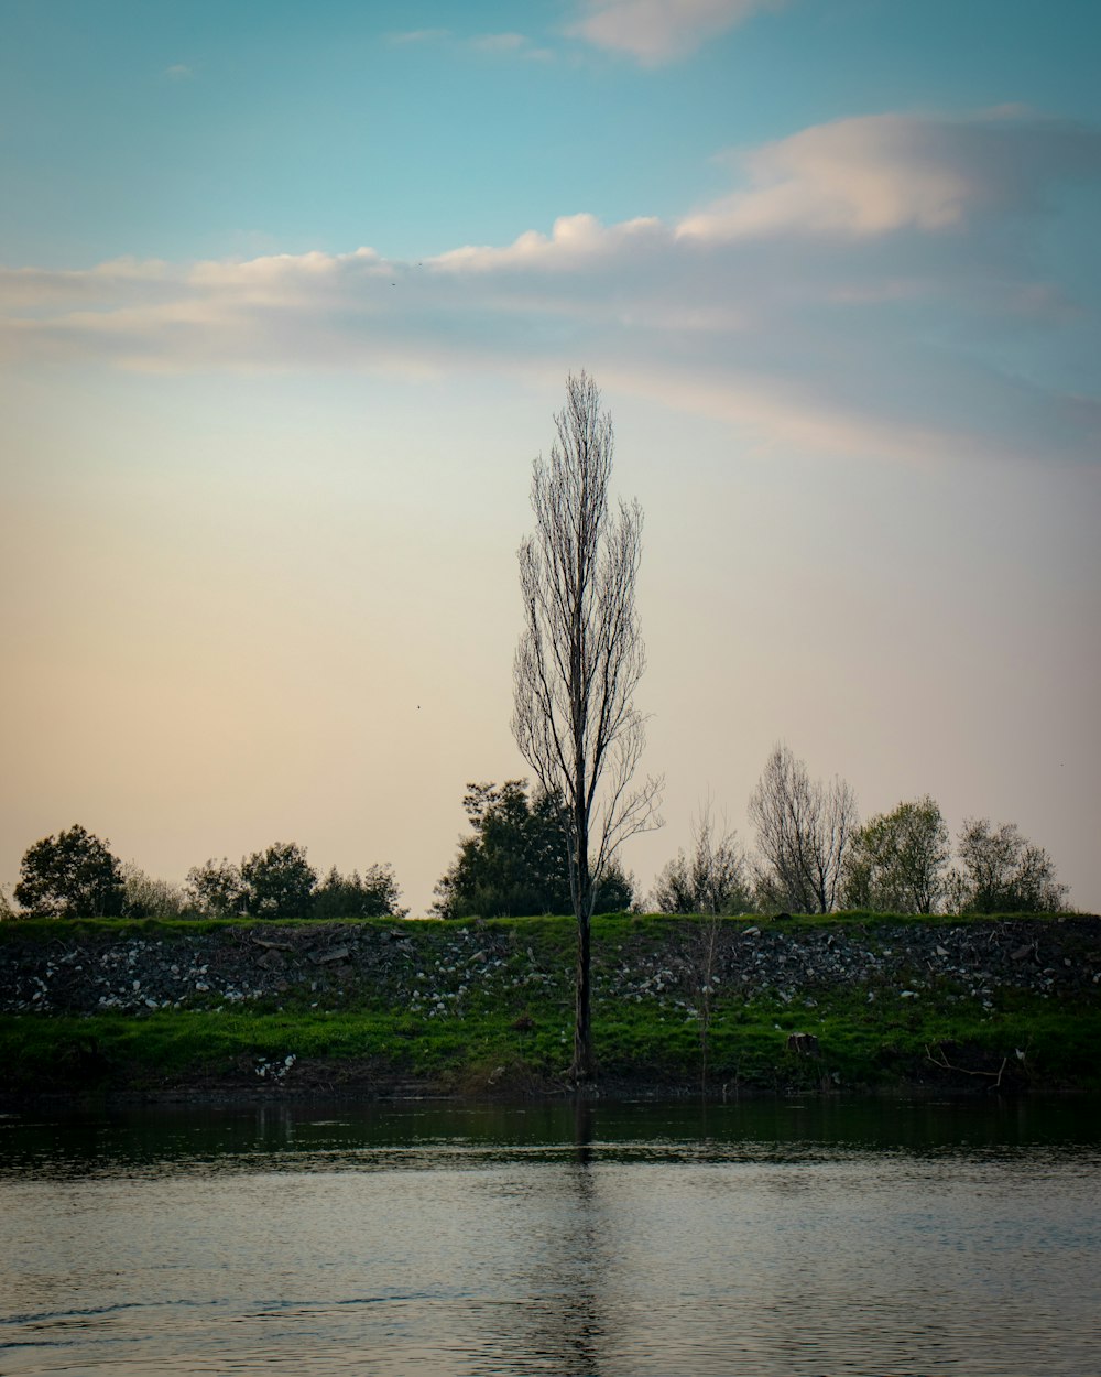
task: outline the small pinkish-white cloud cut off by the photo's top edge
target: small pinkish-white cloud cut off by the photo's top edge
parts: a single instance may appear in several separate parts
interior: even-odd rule
[[[658,66],[694,52],[707,39],[780,0],[582,0],[568,32],[599,48]]]

